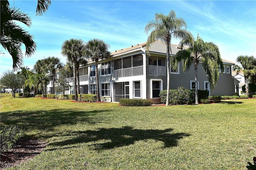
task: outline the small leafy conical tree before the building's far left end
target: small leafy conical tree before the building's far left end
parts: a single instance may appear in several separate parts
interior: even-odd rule
[[[56,82],[55,90],[56,92],[62,92],[63,95],[65,95],[65,91],[69,90],[70,85],[68,84],[68,81],[66,78],[69,77],[70,72],[68,72],[65,69],[62,69],[61,74]]]

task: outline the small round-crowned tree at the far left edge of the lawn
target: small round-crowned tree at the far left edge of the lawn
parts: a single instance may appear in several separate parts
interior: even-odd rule
[[[18,88],[21,88],[24,84],[22,76],[15,74],[13,71],[4,72],[2,78],[0,79],[2,86],[12,89],[13,96],[15,98],[15,92]]]

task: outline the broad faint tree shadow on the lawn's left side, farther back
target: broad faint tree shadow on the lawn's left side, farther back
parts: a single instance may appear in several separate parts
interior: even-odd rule
[[[76,111],[70,109],[52,109],[50,111],[8,111],[1,113],[1,123],[20,125],[23,129],[38,129],[51,131],[59,125],[74,125],[76,123],[95,124],[108,121],[99,113],[109,110]]]

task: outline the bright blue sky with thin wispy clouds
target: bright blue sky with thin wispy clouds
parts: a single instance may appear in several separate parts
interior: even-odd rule
[[[46,14],[36,16],[37,1],[9,0],[32,19],[36,53],[24,58],[24,66],[33,68],[37,60],[61,55],[65,40],[102,39],[115,51],[146,42],[145,25],[158,13],[175,10],[184,18],[194,37],[199,33],[206,42],[218,45],[222,59],[235,62],[239,55],[256,57],[256,1],[88,1],[54,0]],[[172,44],[180,40],[172,39]],[[0,74],[12,69],[12,57],[0,47]],[[23,51],[25,48],[23,47]]]

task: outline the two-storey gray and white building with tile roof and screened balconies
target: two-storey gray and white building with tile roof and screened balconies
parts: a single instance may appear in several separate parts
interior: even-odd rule
[[[172,55],[180,50],[180,46],[171,45]],[[149,48],[150,57],[146,53],[146,43],[133,45],[111,53],[108,59],[98,62],[100,96],[109,102],[118,102],[120,98],[142,98],[152,99],[159,103],[159,93],[166,90],[166,45],[161,41],[155,41]],[[234,79],[231,75],[231,66],[234,63],[223,60],[224,72],[214,90],[210,90],[208,78],[202,68],[198,65],[198,87],[209,90],[210,95],[234,95]],[[56,80],[58,78],[56,74]],[[170,89],[183,86],[193,89],[194,66],[188,72],[179,69],[174,72],[170,69]],[[96,94],[95,63],[89,62],[79,68],[80,92],[82,94]],[[52,74],[48,74],[52,76]],[[51,77],[50,79],[51,80]],[[72,86],[65,94],[73,94],[73,77],[68,78]],[[52,81],[47,86],[47,91],[52,92]]]

